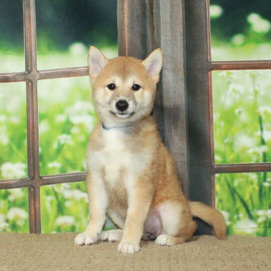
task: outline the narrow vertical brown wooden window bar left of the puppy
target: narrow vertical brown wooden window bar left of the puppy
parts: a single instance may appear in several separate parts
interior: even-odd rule
[[[27,170],[30,177],[28,187],[29,230],[40,233],[40,177],[39,177],[39,143],[38,143],[38,110],[37,110],[37,79],[36,69],[36,27],[35,1],[23,0],[23,27],[25,70],[31,74],[26,81],[27,110]]]

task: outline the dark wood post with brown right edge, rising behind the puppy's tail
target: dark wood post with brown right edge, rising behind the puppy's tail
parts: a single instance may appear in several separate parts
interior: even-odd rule
[[[186,0],[187,89],[189,98],[190,195],[214,206],[211,71],[208,0]],[[200,233],[210,227],[199,223]]]

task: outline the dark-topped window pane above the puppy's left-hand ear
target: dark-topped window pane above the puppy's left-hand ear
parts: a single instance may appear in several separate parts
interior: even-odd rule
[[[116,0],[36,0],[38,69],[87,65],[89,45],[117,55]]]

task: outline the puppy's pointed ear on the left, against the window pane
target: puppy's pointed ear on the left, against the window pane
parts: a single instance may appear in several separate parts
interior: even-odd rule
[[[90,46],[87,62],[89,75],[91,79],[95,79],[107,64],[108,59],[96,47]]]

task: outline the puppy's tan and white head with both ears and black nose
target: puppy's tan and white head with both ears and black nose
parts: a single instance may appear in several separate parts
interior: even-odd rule
[[[92,94],[101,119],[127,123],[150,114],[162,66],[158,48],[143,61],[118,56],[107,59],[97,48],[88,53]]]

